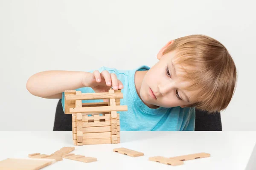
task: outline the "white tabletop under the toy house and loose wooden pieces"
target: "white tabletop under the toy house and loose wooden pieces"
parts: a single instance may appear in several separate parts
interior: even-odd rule
[[[244,170],[256,144],[255,131],[172,132],[121,131],[119,144],[75,146],[72,153],[98,159],[84,163],[63,159],[44,170]],[[71,131],[0,131],[0,160],[28,158],[28,154],[51,154],[61,147],[73,146]],[[125,147],[143,152],[130,157],[113,152]],[[172,166],[149,161],[152,156],[173,157],[192,153],[210,153],[208,158],[184,161]]]

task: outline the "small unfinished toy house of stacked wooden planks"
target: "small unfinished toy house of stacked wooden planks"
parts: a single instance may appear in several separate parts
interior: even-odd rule
[[[121,90],[104,93],[81,93],[67,90],[65,114],[72,114],[74,145],[120,143],[120,121],[117,111],[127,111],[120,105]],[[82,100],[108,99],[108,102],[82,103]]]

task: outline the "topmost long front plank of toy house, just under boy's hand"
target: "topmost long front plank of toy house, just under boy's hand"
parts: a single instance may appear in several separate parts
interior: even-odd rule
[[[118,99],[118,98],[123,98],[122,93],[114,93],[114,94],[109,94],[108,92],[103,92],[103,93],[82,93],[80,95],[76,94],[65,94],[65,99],[67,101],[71,100],[96,100],[96,99]],[[68,103],[70,104],[70,103]]]

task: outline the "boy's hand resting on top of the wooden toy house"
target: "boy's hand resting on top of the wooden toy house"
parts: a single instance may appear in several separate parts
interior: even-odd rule
[[[81,80],[84,87],[92,88],[96,93],[108,92],[113,87],[113,90],[121,90],[123,88],[122,82],[117,79],[116,74],[109,73],[107,70],[99,73],[98,70],[87,74]]]

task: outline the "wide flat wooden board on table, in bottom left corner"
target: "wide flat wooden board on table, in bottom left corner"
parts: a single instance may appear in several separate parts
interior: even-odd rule
[[[40,170],[55,162],[54,159],[5,159],[0,161],[0,170]]]

